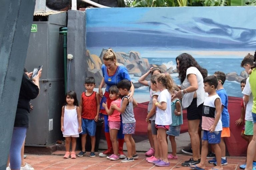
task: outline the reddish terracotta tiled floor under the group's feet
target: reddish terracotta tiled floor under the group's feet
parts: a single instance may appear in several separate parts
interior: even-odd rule
[[[134,162],[121,163],[118,161],[110,161],[107,158],[89,156],[77,157],[76,159],[64,159],[65,151],[56,151],[55,155],[31,155],[28,154],[25,161],[32,165],[35,170],[143,170],[143,169],[171,169],[171,170],[189,170],[189,167],[182,167],[181,163],[188,160],[189,155],[178,155],[177,160],[169,160],[171,166],[156,167],[148,163],[144,153],[138,153],[139,159]],[[78,152],[77,152],[78,153]],[[87,155],[89,152],[87,152]],[[96,154],[97,155],[97,154]],[[228,165],[223,166],[224,170],[238,170],[239,165],[245,163],[245,157],[227,157]],[[206,164],[207,169],[213,167],[212,164]]]

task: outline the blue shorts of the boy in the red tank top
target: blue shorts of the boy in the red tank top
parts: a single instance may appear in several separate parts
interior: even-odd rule
[[[89,134],[90,136],[95,136],[96,132],[96,122],[94,120],[83,119],[82,118],[82,130],[80,134]]]

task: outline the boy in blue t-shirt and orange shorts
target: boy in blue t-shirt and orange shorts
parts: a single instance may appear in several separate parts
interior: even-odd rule
[[[217,86],[217,94],[221,99],[221,122],[222,122],[222,132],[221,132],[221,141],[219,143],[221,149],[221,165],[227,165],[227,158],[226,158],[226,145],[224,142],[224,137],[230,137],[230,130],[229,130],[229,113],[228,113],[228,95],[226,90],[223,87],[223,84],[226,80],[226,75],[222,71],[216,71],[214,75],[218,79],[218,86]],[[214,165],[217,164],[216,158],[208,161],[209,163],[213,163]]]

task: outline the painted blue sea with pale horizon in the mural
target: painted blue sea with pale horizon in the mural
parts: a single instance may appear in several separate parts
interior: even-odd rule
[[[90,47],[91,54],[100,55],[102,49],[108,47]],[[141,58],[147,58],[149,64],[166,65],[167,68],[176,68],[175,57],[180,53],[187,52],[195,57],[196,61],[201,67],[208,70],[208,75],[213,75],[215,71],[223,71],[225,74],[230,72],[236,72],[240,75],[241,71],[244,70],[240,66],[242,58],[252,51],[236,51],[235,49],[229,49],[225,51],[212,49],[207,50],[182,50],[182,49],[170,49],[170,48],[149,48],[149,47],[114,47],[114,51],[129,52],[130,50],[138,51]],[[139,77],[130,75],[133,82],[138,82]],[[171,74],[172,78],[177,84],[180,84],[178,73]],[[228,96],[242,97],[240,83],[236,81],[225,81],[224,88],[227,91]],[[149,99],[149,88],[140,87],[135,89],[135,99],[138,98],[138,102],[148,101]]]

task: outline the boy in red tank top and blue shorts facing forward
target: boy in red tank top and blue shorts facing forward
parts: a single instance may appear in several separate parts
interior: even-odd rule
[[[95,157],[94,148],[95,148],[95,132],[96,132],[96,122],[99,118],[100,111],[100,97],[99,94],[93,91],[95,87],[95,79],[93,77],[87,77],[85,79],[84,86],[86,88],[86,92],[81,94],[80,98],[80,110],[82,111],[82,129],[83,132],[80,133],[81,143],[82,143],[82,151],[78,153],[77,156],[82,157],[86,154],[85,144],[86,144],[86,136],[87,134],[91,137],[91,153],[90,157]]]

